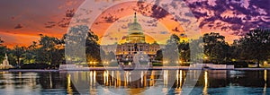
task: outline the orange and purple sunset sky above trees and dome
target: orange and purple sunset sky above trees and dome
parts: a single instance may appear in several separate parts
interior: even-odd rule
[[[95,0],[96,3],[121,0]],[[162,0],[161,0],[162,1]],[[0,38],[4,45],[28,46],[37,41],[39,34],[61,38],[67,33],[73,14],[77,11],[91,13],[80,8],[85,0],[1,0]],[[155,3],[159,3],[154,1]],[[254,28],[270,27],[269,0],[186,0],[184,3],[193,14],[202,33],[219,32],[231,43]],[[94,5],[94,4],[88,4]],[[175,4],[170,4],[174,6]],[[177,4],[176,4],[177,5]],[[177,9],[181,11],[181,9]],[[118,34],[126,34],[128,23],[133,22],[134,13],[146,35],[158,37],[159,43],[166,42],[163,35],[177,34],[184,37],[186,30],[170,13],[153,4],[126,2],[103,10],[89,26],[100,39],[119,40]],[[80,22],[89,22],[91,16]],[[181,19],[189,22],[188,19]],[[147,38],[149,42],[154,39]]]

